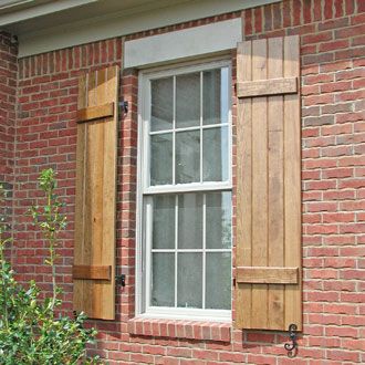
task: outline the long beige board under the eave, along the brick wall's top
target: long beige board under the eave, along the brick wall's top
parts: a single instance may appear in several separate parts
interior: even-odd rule
[[[249,9],[281,0],[200,0],[187,1],[136,14],[116,13],[36,32],[18,34],[19,56],[54,51],[114,36],[173,25],[190,20]]]

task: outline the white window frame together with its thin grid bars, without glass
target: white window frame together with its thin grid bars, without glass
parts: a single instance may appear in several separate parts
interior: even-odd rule
[[[204,125],[202,121],[200,121],[199,126],[192,127],[184,127],[184,128],[170,128],[166,131],[154,131],[152,132],[149,128],[150,121],[150,81],[164,76],[177,76],[179,74],[211,70],[217,67],[228,67],[228,123],[217,123]],[[202,77],[200,77],[202,79]],[[175,82],[176,77],[174,77],[174,94],[175,91]],[[147,239],[147,236],[150,234],[150,223],[147,223],[148,212],[145,215],[145,207],[148,201],[148,196],[157,195],[157,194],[181,194],[181,192],[205,192],[205,191],[229,191],[232,189],[232,176],[231,176],[231,65],[229,61],[218,61],[212,63],[205,63],[201,65],[159,71],[159,72],[144,72],[140,74],[139,79],[139,102],[138,105],[142,106],[139,109],[139,140],[138,140],[138,210],[137,210],[137,262],[136,262],[136,310],[137,314],[148,317],[171,317],[171,319],[196,319],[196,320],[205,320],[205,321],[229,321],[231,319],[231,310],[208,310],[208,309],[184,309],[184,307],[163,307],[163,306],[152,306],[150,303],[150,280],[152,280],[152,253],[153,252],[167,252],[164,250],[152,250],[152,239]],[[175,114],[175,95],[174,95],[174,114]],[[201,106],[200,106],[201,107]],[[200,113],[201,119],[201,113]],[[188,182],[188,184],[170,184],[170,185],[158,185],[158,186],[149,186],[149,139],[153,135],[159,135],[167,132],[178,133],[184,131],[200,131],[200,136],[204,129],[210,128],[219,128],[228,126],[228,179],[226,181],[200,181],[199,182]],[[174,138],[175,144],[175,138]],[[173,168],[175,169],[175,145],[174,148],[174,161]],[[202,140],[200,142],[200,149],[202,148]],[[200,150],[201,156],[201,150]],[[202,160],[200,160],[201,165]],[[200,166],[200,174],[202,174],[202,169]],[[175,171],[174,175],[175,177]],[[149,208],[150,209],[150,208]],[[150,218],[149,218],[150,219]],[[144,228],[144,220],[146,221],[146,228]],[[146,231],[144,231],[146,229]],[[204,232],[205,234],[205,232]],[[146,243],[143,247],[143,242]],[[180,250],[179,250],[180,251]],[[184,252],[197,252],[195,250],[181,250]],[[173,252],[175,252],[173,250]],[[201,250],[199,252],[202,252]],[[231,252],[231,249],[208,249],[206,252]],[[177,257],[177,254],[176,254]],[[176,259],[175,259],[176,260]],[[177,270],[177,265],[175,264],[175,270]],[[205,268],[202,271],[202,275],[206,275]],[[205,281],[205,280],[204,280]],[[177,289],[175,288],[175,291]],[[205,288],[202,289],[205,292]],[[176,294],[175,294],[176,296]],[[175,299],[176,303],[176,299]]]

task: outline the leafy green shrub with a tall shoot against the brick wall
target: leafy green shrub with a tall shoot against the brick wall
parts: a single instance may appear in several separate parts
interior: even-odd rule
[[[4,257],[4,248],[11,239],[6,217],[0,217],[0,364],[97,364],[97,357],[85,356],[86,344],[93,343],[96,335],[94,328],[84,327],[86,316],[83,313],[75,317],[55,314],[62,305],[55,275],[56,246],[66,217],[62,213],[63,204],[54,192],[54,171],[43,170],[39,182],[45,202],[32,207],[30,212],[48,243],[45,263],[52,271],[52,296],[40,300],[41,291],[34,281],[27,288],[15,281],[14,271]],[[1,187],[0,190],[3,201]]]

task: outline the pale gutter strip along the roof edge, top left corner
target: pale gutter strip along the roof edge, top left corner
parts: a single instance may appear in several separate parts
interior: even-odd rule
[[[0,27],[10,25],[12,23],[19,23],[21,21],[29,20],[32,18],[52,14],[58,11],[84,6],[95,1],[97,0],[59,0],[59,1],[41,3],[38,6],[36,4],[33,6],[33,2],[29,2],[32,7],[4,14],[0,13]]]

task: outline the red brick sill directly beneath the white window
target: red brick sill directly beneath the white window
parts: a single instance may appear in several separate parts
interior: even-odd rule
[[[213,342],[231,341],[231,323],[135,317],[128,321],[132,335],[189,338]]]

